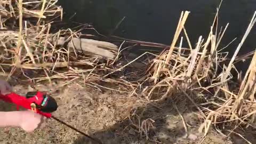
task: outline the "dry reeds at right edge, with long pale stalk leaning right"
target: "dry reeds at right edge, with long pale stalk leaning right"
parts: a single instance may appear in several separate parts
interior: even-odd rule
[[[215,95],[220,95],[218,92],[221,91],[222,97],[218,97],[221,102],[217,109],[209,110],[207,112],[207,118],[201,127],[201,131],[204,129],[205,134],[207,129],[209,129],[210,124],[231,124],[233,129],[236,129],[239,126],[248,127],[252,126],[255,123],[255,93],[256,93],[256,52],[254,51],[253,58],[251,60],[250,66],[246,71],[245,76],[241,83],[239,83],[238,90],[231,91],[231,85],[227,84],[228,75],[230,74],[230,70],[234,67],[233,62],[237,57],[239,50],[241,49],[246,37],[249,35],[251,29],[253,28],[256,22],[256,11],[253,14],[251,22],[245,31],[245,34],[241,40],[241,43],[237,46],[237,49],[229,61],[228,67],[223,70],[221,75],[222,85],[218,87]],[[231,131],[232,132],[232,131]],[[230,133],[231,133],[230,132]]]

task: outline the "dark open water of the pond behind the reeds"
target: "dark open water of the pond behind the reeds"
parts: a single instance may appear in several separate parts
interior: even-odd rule
[[[168,45],[172,41],[181,11],[187,10],[191,13],[186,22],[186,29],[191,43],[195,45],[200,35],[206,38],[209,33],[220,1],[62,0],[59,3],[65,12],[64,21],[68,22],[69,27],[75,26],[73,22],[92,23],[101,34],[108,35],[125,17],[118,29],[114,31],[114,35]],[[225,27],[228,22],[230,25],[221,46],[227,45],[237,37],[226,51],[231,54],[235,51],[255,10],[255,0],[226,0],[222,2],[219,26]],[[74,13],[76,14],[74,15]],[[69,20],[72,15],[74,17]],[[255,49],[255,37],[256,27],[247,37],[239,55]],[[239,65],[239,69],[246,67],[247,65]]]

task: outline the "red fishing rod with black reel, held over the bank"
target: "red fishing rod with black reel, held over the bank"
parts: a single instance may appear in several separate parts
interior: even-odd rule
[[[28,92],[26,97],[23,97],[17,93],[10,93],[6,95],[0,94],[0,99],[5,102],[14,103],[17,106],[17,110],[19,107],[23,107],[25,109],[33,110],[35,113],[43,115],[47,118],[52,118],[61,124],[68,126],[70,129],[75,130],[78,133],[81,133],[85,137],[102,144],[102,142],[98,139],[92,138],[89,135],[85,134],[82,131],[77,130],[75,127],[61,121],[60,119],[54,117],[51,113],[57,110],[58,105],[55,99],[53,99],[50,95],[43,92]]]

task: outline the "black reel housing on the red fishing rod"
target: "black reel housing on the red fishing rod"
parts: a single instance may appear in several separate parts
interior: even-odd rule
[[[37,92],[28,92],[26,94],[26,98],[34,97],[36,94],[37,94]],[[44,105],[42,107],[41,105],[36,104],[36,108],[40,109],[44,113],[52,113],[53,111],[56,111],[58,108],[58,104],[55,101],[55,99],[53,99],[49,94],[44,94],[43,98],[45,99],[46,97],[48,97],[46,105]],[[43,103],[43,101],[41,101],[40,104],[42,104],[42,103]]]

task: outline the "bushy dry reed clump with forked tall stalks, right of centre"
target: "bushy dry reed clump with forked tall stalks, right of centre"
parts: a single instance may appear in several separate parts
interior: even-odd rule
[[[202,93],[221,85],[218,68],[220,63],[226,60],[227,53],[218,51],[218,46],[228,25],[221,33],[216,34],[217,32],[213,31],[214,22],[207,39],[200,36],[193,48],[184,26],[188,15],[188,11],[181,13],[170,50],[158,55],[147,70],[148,78],[146,80],[154,83],[154,86],[144,90],[148,99],[151,99],[155,91],[164,90],[165,92],[163,91],[160,95],[165,98],[170,93],[177,91],[177,87],[182,91],[193,90]],[[184,41],[183,37],[180,37],[182,30],[189,49],[182,48]],[[177,44],[179,38],[180,43]],[[179,46],[175,47],[176,45]]]

